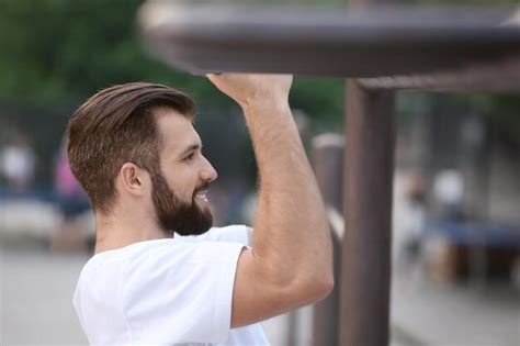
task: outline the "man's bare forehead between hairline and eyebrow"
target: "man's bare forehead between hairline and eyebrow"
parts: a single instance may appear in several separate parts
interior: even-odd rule
[[[201,145],[201,137],[189,118],[172,109],[161,109],[157,114],[157,127],[165,152],[179,154],[191,145]]]

